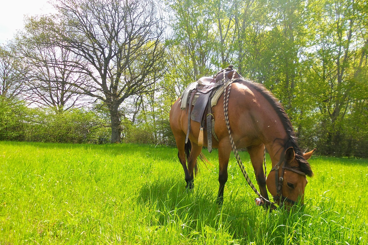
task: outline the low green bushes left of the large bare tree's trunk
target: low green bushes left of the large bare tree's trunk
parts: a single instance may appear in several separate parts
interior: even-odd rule
[[[92,111],[28,108],[0,97],[0,140],[63,143],[106,143],[109,129]]]

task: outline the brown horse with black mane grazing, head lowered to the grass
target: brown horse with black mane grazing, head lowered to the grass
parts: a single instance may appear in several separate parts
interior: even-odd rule
[[[212,107],[214,130],[219,139],[217,142],[212,136],[212,146],[219,149],[219,204],[223,202],[227,166],[232,150],[223,110],[223,96],[220,96],[217,104]],[[303,203],[304,189],[308,183],[306,175],[313,175],[307,159],[315,149],[305,154],[301,152],[290,119],[272,93],[261,84],[242,78],[234,79],[228,115],[236,147],[248,150],[261,195],[268,199],[267,187],[279,205],[285,203],[290,207],[297,200]],[[185,144],[188,108],[180,109],[180,99],[171,107],[170,127],[175,136],[187,187],[191,189],[194,187],[193,173],[197,172],[197,157],[200,156],[203,160],[204,156],[201,154],[202,146],[198,146],[199,123],[191,121],[190,141]],[[207,139],[204,138],[203,145],[207,146]],[[267,180],[262,166],[264,147],[272,161],[272,170]]]

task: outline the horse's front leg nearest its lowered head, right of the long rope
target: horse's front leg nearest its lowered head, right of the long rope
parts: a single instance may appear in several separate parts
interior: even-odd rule
[[[265,172],[263,171],[264,149],[265,149],[265,145],[261,144],[258,146],[249,147],[247,150],[248,150],[249,156],[251,157],[251,162],[254,168],[255,177],[256,177],[256,180],[259,186],[259,192],[264,198],[268,199]]]

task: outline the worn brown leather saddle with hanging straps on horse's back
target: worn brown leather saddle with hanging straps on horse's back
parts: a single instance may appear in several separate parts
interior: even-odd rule
[[[215,119],[212,115],[212,106],[217,103],[211,103],[211,98],[217,90],[222,88],[225,82],[229,81],[233,77],[233,73],[236,72],[233,69],[233,65],[217,72],[215,76],[212,77],[202,77],[199,78],[197,82],[190,84],[182,93],[180,99],[180,108],[182,110],[188,110],[188,129],[187,136],[185,138],[185,143],[188,142],[189,132],[190,132],[190,120],[196,121],[201,124],[198,145],[203,145],[203,131],[204,125],[206,124],[207,129],[207,142],[208,142],[208,152],[212,152],[212,135],[218,141],[213,127],[215,125]],[[224,77],[225,71],[225,77]],[[241,78],[237,72],[234,78]],[[194,105],[192,109],[192,105]]]

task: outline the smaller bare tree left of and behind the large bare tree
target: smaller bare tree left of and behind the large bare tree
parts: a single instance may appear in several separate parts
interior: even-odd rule
[[[16,39],[23,63],[29,67],[26,100],[56,113],[82,107],[87,98],[78,86],[88,82],[89,76],[74,66],[81,64],[82,58],[65,47],[45,45],[47,36],[38,29],[44,21],[47,18],[26,19],[25,31],[18,33]]]

